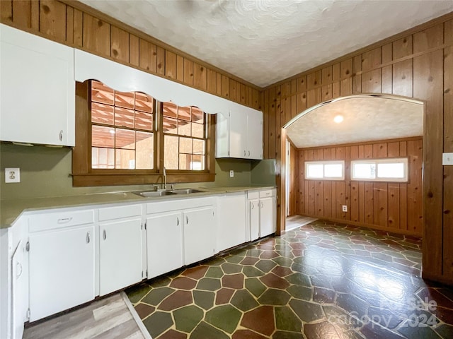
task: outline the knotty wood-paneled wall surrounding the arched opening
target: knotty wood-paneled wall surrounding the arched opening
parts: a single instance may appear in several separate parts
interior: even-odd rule
[[[453,284],[453,167],[442,166],[442,152],[453,152],[453,12],[263,89],[265,158],[282,158],[281,127],[289,119],[359,93],[425,102],[423,276]]]

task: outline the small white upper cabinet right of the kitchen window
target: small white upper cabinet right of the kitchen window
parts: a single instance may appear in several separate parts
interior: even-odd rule
[[[263,113],[243,107],[217,114],[215,157],[263,159]]]

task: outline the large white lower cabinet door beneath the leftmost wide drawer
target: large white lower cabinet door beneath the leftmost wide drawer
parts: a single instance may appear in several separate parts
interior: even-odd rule
[[[30,234],[30,321],[94,299],[94,226]]]

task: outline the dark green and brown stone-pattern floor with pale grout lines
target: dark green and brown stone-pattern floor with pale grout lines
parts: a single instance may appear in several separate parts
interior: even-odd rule
[[[311,222],[127,290],[154,339],[453,338],[421,241]]]

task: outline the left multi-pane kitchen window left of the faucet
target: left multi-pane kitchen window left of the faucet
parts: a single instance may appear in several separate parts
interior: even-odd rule
[[[91,168],[154,168],[154,99],[91,81]]]

